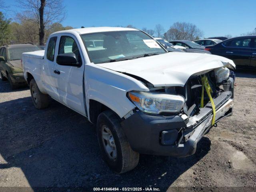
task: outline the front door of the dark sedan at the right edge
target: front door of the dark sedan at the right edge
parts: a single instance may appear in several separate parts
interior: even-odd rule
[[[220,55],[233,60],[236,65],[248,66],[251,60],[251,40],[244,37],[224,42],[224,49]]]

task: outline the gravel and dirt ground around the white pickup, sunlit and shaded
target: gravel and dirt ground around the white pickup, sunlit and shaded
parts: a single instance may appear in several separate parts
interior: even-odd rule
[[[236,83],[233,116],[202,138],[196,154],[141,155],[134,170],[119,175],[102,161],[94,126],[86,118],[54,100],[37,110],[28,88],[12,91],[8,82],[0,82],[0,187],[256,189],[256,72],[237,72]]]

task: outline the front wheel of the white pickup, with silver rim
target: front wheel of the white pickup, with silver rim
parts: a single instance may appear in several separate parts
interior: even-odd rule
[[[132,150],[114,112],[107,110],[98,116],[96,131],[103,159],[114,172],[128,172],[138,165],[140,154]],[[111,142],[114,145],[111,145]],[[107,149],[111,149],[112,153],[107,152]]]

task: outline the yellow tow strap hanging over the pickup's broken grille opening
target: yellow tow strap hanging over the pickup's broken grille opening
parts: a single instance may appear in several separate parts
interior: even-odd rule
[[[212,104],[212,110],[213,110],[212,125],[214,125],[215,124],[216,109],[215,109],[215,105],[214,105],[212,95],[211,95],[212,88],[210,87],[210,84],[209,84],[208,79],[207,79],[206,76],[203,76],[201,78],[201,80],[202,80],[202,84],[203,84],[203,86],[202,86],[201,108],[204,107],[204,87],[205,87],[207,95],[210,98],[210,101],[211,101],[211,104]]]

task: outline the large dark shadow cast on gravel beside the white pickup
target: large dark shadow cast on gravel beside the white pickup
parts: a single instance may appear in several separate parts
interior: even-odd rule
[[[80,114],[52,100],[44,110],[31,98],[0,103],[0,171],[18,167],[32,188],[40,186],[162,186],[167,188],[210,150],[202,138],[196,154],[187,158],[141,155],[138,166],[115,174],[100,156],[96,132]],[[3,170],[2,170],[3,171]]]

